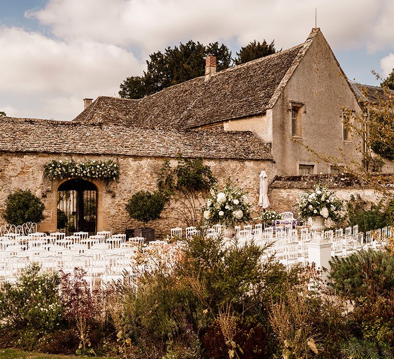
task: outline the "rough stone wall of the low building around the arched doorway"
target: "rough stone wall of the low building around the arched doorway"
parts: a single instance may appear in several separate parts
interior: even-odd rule
[[[30,189],[45,204],[45,220],[40,224],[40,231],[56,231],[57,188],[67,179],[49,181],[44,177],[43,166],[52,159],[65,159],[65,156],[53,154],[10,154],[0,155],[0,211],[4,211],[4,203],[9,193],[16,189]],[[70,158],[70,157],[68,157]],[[140,190],[154,191],[157,178],[163,165],[163,157],[111,157],[111,156],[73,156],[75,161],[112,159],[119,162],[120,180],[105,185],[102,181],[92,180],[98,189],[97,230],[110,230],[112,233],[124,232],[125,228],[140,227],[141,223],[129,218],[125,205],[131,195]],[[175,165],[175,159],[171,159]],[[231,177],[234,183],[245,188],[249,200],[254,206],[254,214],[259,212],[259,174],[265,169],[272,181],[275,171],[272,161],[240,161],[240,160],[206,160],[213,175],[223,183]],[[0,218],[0,224],[4,219]],[[149,223],[159,235],[168,234],[169,229],[179,225],[175,219],[171,205],[166,208],[162,218]]]

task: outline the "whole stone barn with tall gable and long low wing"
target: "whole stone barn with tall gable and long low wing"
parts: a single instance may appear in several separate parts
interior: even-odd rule
[[[342,108],[360,112],[356,96],[320,29],[305,43],[216,72],[208,56],[206,74],[142,99],[101,96],[85,99],[71,122],[0,117],[0,208],[20,188],[42,197],[41,231],[56,230],[59,192],[75,190],[73,178],[49,180],[51,160],[112,159],[119,182],[86,178],[95,200],[94,229],[123,232],[136,227],[125,211],[130,196],[155,190],[164,159],[201,157],[221,181],[231,177],[249,193],[257,214],[259,173],[330,173],[318,153],[357,157],[343,137]],[[82,205],[82,204],[81,204]],[[164,212],[154,227],[179,225]],[[75,228],[78,230],[81,228]]]

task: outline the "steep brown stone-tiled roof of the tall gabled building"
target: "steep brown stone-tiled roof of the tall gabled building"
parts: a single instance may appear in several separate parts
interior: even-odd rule
[[[80,122],[132,124],[148,128],[196,128],[264,113],[277,101],[313,38],[263,58],[197,77],[139,100],[98,97],[74,118]]]

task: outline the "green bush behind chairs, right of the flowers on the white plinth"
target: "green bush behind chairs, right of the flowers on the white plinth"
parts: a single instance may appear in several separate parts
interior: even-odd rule
[[[382,201],[377,204],[368,203],[362,200],[358,194],[356,197],[351,195],[346,206],[348,225],[358,225],[360,232],[365,233],[373,229],[383,228],[387,225],[387,213],[383,208]]]

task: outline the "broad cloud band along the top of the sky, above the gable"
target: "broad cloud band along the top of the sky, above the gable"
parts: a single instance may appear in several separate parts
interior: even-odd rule
[[[187,41],[254,38],[288,48],[304,41],[318,26],[333,47],[375,51],[394,44],[391,0],[50,0],[27,13],[63,39],[84,38],[119,46],[139,46],[143,53]]]

